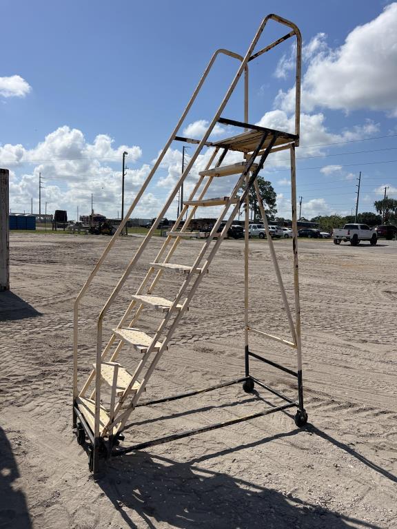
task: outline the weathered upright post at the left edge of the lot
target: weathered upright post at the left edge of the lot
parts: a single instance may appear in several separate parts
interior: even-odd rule
[[[10,290],[10,225],[8,169],[0,169],[0,291]]]

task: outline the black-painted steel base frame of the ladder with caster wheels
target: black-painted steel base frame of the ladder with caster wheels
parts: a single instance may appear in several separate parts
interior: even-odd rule
[[[297,377],[298,378],[298,402],[285,396],[280,391],[276,391],[276,389],[270,386],[267,386],[267,384],[263,384],[261,380],[258,380],[256,377],[253,377],[252,375],[250,375],[250,357],[253,357],[256,360],[261,360],[262,362],[265,362],[266,364],[269,364],[276,369],[279,369],[281,371],[284,371],[285,373],[288,373],[289,375]],[[194,430],[189,430],[189,431],[176,433],[172,435],[165,435],[165,437],[158,437],[156,439],[151,439],[143,443],[134,444],[132,446],[125,446],[125,447],[118,446],[120,440],[124,439],[122,433],[116,434],[110,437],[108,441],[103,439],[103,437],[99,439],[95,439],[94,433],[92,432],[90,426],[88,426],[83,415],[79,411],[79,406],[75,403],[74,404],[74,414],[76,415],[77,422],[78,422],[78,425],[77,425],[78,436],[79,436],[79,428],[82,427],[83,430],[85,431],[85,434],[88,437],[89,444],[90,444],[90,448],[88,450],[88,453],[90,455],[90,470],[92,470],[94,473],[99,470],[97,464],[95,465],[96,468],[94,468],[93,466],[92,461],[94,460],[98,461],[98,457],[95,457],[95,458],[93,457],[94,450],[96,450],[97,453],[101,454],[102,457],[117,457],[117,456],[124,455],[130,452],[134,452],[135,450],[143,450],[144,448],[148,448],[150,446],[156,446],[159,444],[165,444],[168,442],[176,441],[178,439],[184,439],[185,437],[191,437],[192,435],[197,435],[199,433],[205,433],[208,431],[216,430],[218,428],[225,428],[225,426],[232,426],[232,424],[238,424],[241,422],[249,421],[251,419],[256,419],[258,417],[263,417],[265,415],[276,413],[277,411],[284,411],[284,410],[287,410],[288,408],[294,408],[294,407],[298,408],[298,411],[296,412],[296,415],[294,417],[296,426],[301,428],[302,426],[305,426],[305,424],[307,423],[307,413],[305,411],[305,408],[303,408],[302,373],[301,372],[295,373],[291,369],[285,368],[284,366],[281,366],[280,364],[276,364],[276,362],[272,362],[260,355],[251,353],[248,347],[245,347],[245,377],[241,377],[235,380],[230,380],[229,382],[223,382],[222,384],[216,384],[215,386],[210,386],[208,388],[203,388],[203,389],[199,389],[196,391],[190,391],[188,393],[180,393],[179,395],[172,395],[170,397],[164,397],[162,399],[156,399],[156,400],[151,400],[148,402],[143,402],[143,403],[137,404],[136,408],[143,407],[143,406],[153,406],[154,404],[161,404],[162,402],[171,402],[173,400],[185,399],[187,397],[192,397],[194,395],[199,395],[201,393],[207,393],[209,391],[215,391],[216,389],[219,389],[219,388],[224,388],[226,386],[232,386],[234,384],[241,384],[241,383],[249,384],[249,386],[246,386],[249,389],[245,389],[245,391],[247,391],[248,393],[250,393],[250,388],[253,389],[254,384],[257,384],[258,386],[265,389],[266,391],[269,391],[269,393],[272,393],[273,395],[276,395],[276,397],[279,397],[286,404],[281,404],[280,406],[274,406],[272,408],[267,408],[266,410],[258,412],[258,413],[244,415],[243,417],[236,417],[234,419],[229,419],[227,421],[210,424],[208,426],[203,426],[201,428],[195,428]],[[128,429],[130,426],[132,426],[132,424],[125,426],[124,430]]]

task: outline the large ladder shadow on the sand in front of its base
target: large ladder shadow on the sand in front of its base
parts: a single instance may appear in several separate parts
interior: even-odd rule
[[[296,433],[298,430],[285,435]],[[241,445],[187,462],[135,453],[113,459],[98,484],[130,528],[155,529],[163,523],[183,529],[347,529],[352,523],[358,528],[378,528],[258,486],[243,479],[244,476],[233,477],[199,466],[205,459],[249,446]]]

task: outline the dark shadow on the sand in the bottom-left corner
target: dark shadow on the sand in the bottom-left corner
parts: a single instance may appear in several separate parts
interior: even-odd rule
[[[30,529],[32,523],[26,499],[15,489],[19,475],[17,463],[6,433],[0,428],[0,528]]]

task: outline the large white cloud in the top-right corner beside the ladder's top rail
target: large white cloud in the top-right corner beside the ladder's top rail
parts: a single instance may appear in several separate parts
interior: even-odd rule
[[[302,107],[382,110],[397,116],[397,3],[358,25],[335,50],[314,45],[303,76]],[[294,89],[279,92],[276,104],[292,112]]]

